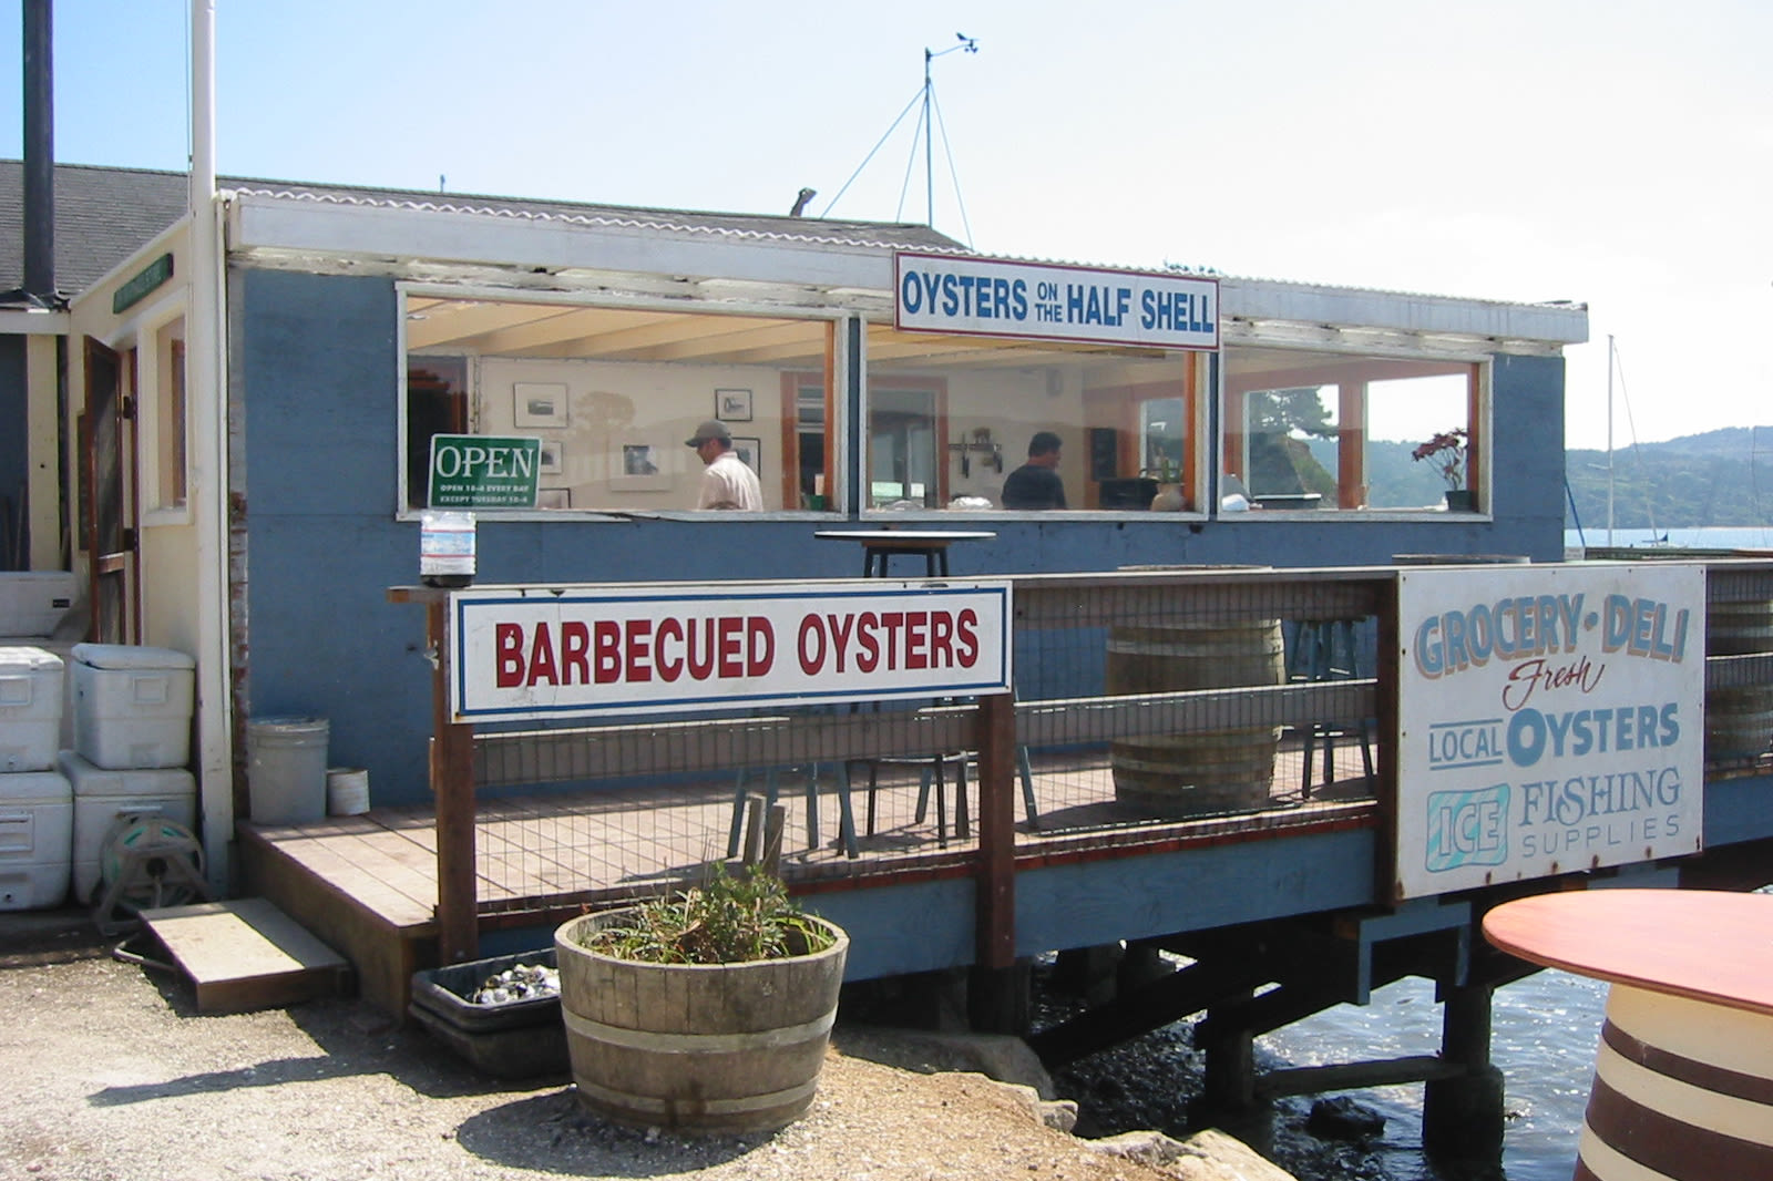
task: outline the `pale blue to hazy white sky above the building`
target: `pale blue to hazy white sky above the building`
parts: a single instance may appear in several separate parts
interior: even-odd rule
[[[738,213],[807,186],[808,215],[931,220],[980,254],[1574,300],[1566,445],[1605,447],[1610,417],[1619,447],[1773,422],[1766,0],[215,11],[225,176]],[[57,160],[184,170],[188,0],[53,21]]]

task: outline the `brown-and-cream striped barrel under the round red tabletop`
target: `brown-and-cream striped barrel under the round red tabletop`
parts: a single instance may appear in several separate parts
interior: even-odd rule
[[[1773,1014],[1613,984],[1574,1181],[1746,1177],[1773,1177]]]

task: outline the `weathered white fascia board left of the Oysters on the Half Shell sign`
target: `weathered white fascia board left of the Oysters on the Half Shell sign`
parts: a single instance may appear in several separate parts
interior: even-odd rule
[[[238,193],[230,254],[413,259],[892,289],[892,250],[716,231],[589,225],[493,213],[348,206]]]

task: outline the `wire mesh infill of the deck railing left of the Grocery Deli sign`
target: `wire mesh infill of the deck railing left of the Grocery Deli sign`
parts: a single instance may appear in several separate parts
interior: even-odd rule
[[[1371,798],[1383,582],[1316,575],[1016,580],[1018,846]],[[480,731],[480,910],[656,894],[768,839],[789,878],[965,867],[977,727],[943,699]]]

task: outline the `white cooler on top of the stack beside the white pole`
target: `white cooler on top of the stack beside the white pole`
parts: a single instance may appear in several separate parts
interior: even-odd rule
[[[71,656],[74,750],[110,770],[190,763],[195,660],[128,644],[74,644]]]

